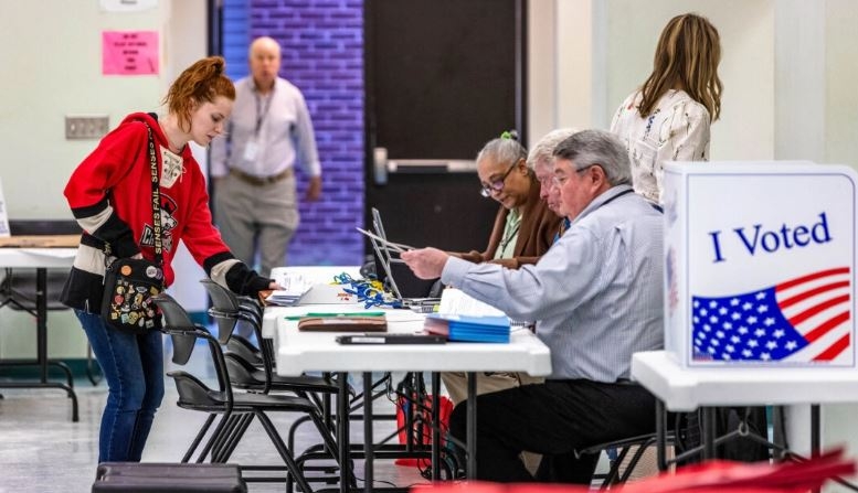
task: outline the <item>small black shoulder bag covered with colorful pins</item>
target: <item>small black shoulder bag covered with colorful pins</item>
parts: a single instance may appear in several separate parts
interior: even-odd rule
[[[152,297],[163,290],[163,270],[155,262],[117,258],[105,272],[102,318],[107,325],[131,333],[161,328]]]

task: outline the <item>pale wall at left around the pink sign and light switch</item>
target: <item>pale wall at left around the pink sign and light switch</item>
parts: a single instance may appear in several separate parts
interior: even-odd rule
[[[205,54],[205,0],[157,6],[112,13],[98,0],[0,0],[0,176],[10,218],[72,218],[63,187],[97,140],[65,140],[65,115],[108,115],[113,128],[131,111],[157,111],[169,83]],[[158,31],[160,75],[103,76],[102,31],[108,30]],[[201,269],[180,264],[191,274],[178,276],[182,282],[173,291],[186,304],[193,304],[190,299],[204,307],[202,291],[187,287],[203,277]],[[0,357],[34,355],[32,318],[3,309],[0,319]],[[47,347],[52,357],[85,355],[71,312],[50,314]]]

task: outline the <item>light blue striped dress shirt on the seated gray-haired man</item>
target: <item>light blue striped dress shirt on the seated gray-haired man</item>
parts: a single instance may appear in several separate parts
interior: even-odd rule
[[[451,257],[441,279],[513,320],[537,320],[549,378],[628,378],[633,353],[664,347],[663,217],[631,190],[595,197],[533,266]]]

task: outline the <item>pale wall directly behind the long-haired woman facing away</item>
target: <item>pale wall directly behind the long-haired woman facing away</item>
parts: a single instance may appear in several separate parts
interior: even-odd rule
[[[706,15],[721,35],[721,119],[712,126],[713,160],[774,157],[774,24],[771,0],[612,0],[607,78],[613,112],[649,75],[658,35],[684,12]],[[751,75],[753,74],[753,75]]]

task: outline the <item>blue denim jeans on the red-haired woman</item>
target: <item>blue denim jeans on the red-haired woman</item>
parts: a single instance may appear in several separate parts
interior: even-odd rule
[[[98,462],[139,462],[155,411],[163,398],[161,332],[127,334],[107,328],[99,315],[75,310],[107,381]]]

